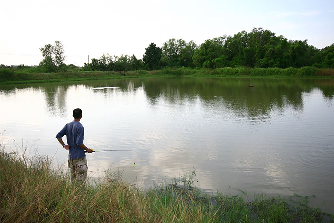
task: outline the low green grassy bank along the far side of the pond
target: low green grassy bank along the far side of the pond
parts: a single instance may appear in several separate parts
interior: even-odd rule
[[[32,83],[55,82],[71,80],[114,79],[127,77],[148,77],[162,75],[191,75],[191,76],[252,76],[252,77],[322,77],[334,78],[334,69],[318,69],[314,67],[302,68],[248,68],[225,67],[217,69],[190,69],[190,68],[164,68],[161,70],[135,70],[123,72],[116,71],[71,71],[59,73],[27,73],[10,68],[0,69],[0,83]]]

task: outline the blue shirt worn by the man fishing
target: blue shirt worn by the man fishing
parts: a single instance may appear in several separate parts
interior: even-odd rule
[[[83,144],[84,128],[78,121],[72,121],[67,123],[60,132],[56,135],[56,138],[62,138],[66,135],[67,145],[70,146],[69,149],[69,159],[80,159],[84,158],[85,151],[79,147]]]

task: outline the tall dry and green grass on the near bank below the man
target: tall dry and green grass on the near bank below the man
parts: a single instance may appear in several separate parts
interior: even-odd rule
[[[1,147],[1,145],[0,145]],[[66,174],[52,169],[47,158],[0,152],[0,222],[333,222],[333,216],[305,204],[255,196],[208,197],[176,184],[137,189],[108,174],[96,186],[75,187]],[[332,218],[332,220],[331,220]]]

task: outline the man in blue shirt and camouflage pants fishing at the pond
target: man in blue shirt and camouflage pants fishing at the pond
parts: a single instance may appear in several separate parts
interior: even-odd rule
[[[68,150],[68,167],[71,168],[71,181],[84,183],[87,178],[87,159],[85,150],[88,153],[93,149],[87,148],[83,144],[84,128],[80,123],[82,111],[80,108],[73,110],[74,121],[67,123],[62,130],[56,135],[57,140],[65,150]],[[64,135],[67,138],[67,144],[61,139]]]

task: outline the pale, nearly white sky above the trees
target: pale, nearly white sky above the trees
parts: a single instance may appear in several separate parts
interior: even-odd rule
[[[38,65],[60,41],[66,64],[89,58],[143,58],[154,42],[206,39],[262,27],[319,49],[334,43],[334,0],[2,0],[0,64]]]

